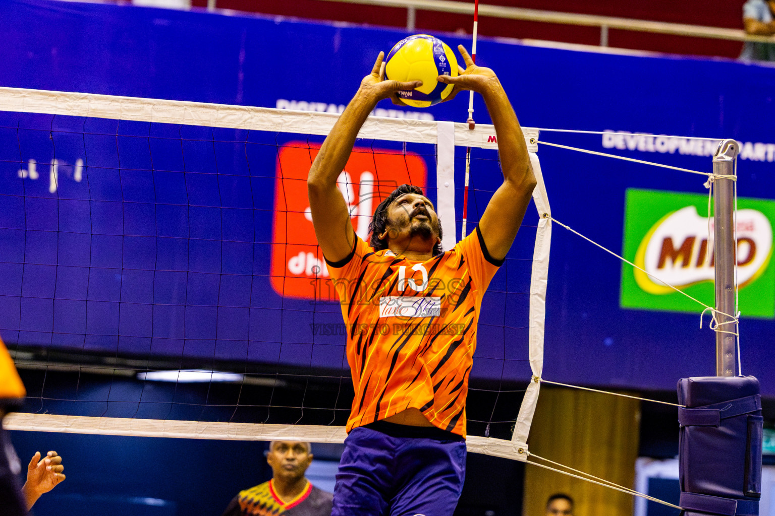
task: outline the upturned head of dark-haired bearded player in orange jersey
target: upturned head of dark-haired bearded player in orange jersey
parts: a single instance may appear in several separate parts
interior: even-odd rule
[[[443,251],[439,216],[419,186],[403,184],[393,190],[374,210],[369,232],[375,251],[411,248],[432,251],[434,256]]]

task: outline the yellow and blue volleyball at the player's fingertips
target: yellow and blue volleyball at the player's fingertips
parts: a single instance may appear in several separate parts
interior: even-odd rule
[[[436,80],[439,75],[457,77],[455,54],[441,39],[427,34],[416,34],[401,39],[387,54],[385,78],[405,82],[422,80],[414,90],[401,90],[398,97],[415,108],[439,104],[454,87]]]

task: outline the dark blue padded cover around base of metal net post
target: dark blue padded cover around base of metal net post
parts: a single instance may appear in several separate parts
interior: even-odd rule
[[[687,516],[758,516],[762,402],[753,376],[678,381],[680,506]]]

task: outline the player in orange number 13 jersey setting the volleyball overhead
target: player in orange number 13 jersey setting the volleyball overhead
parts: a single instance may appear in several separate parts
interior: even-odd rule
[[[517,117],[489,68],[440,76],[484,97],[504,181],[478,227],[441,252],[441,225],[422,190],[398,187],[377,207],[367,244],[336,186],[377,101],[421,83],[382,80],[383,53],[336,121],[308,176],[315,234],[348,327],[355,399],[332,514],[449,516],[463,488],[465,400],[482,296],[511,247],[533,176]],[[387,330],[387,331],[386,331]]]

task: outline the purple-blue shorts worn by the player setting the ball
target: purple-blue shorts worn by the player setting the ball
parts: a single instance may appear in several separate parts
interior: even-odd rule
[[[344,442],[331,516],[452,516],[466,441],[436,427],[378,421]]]

